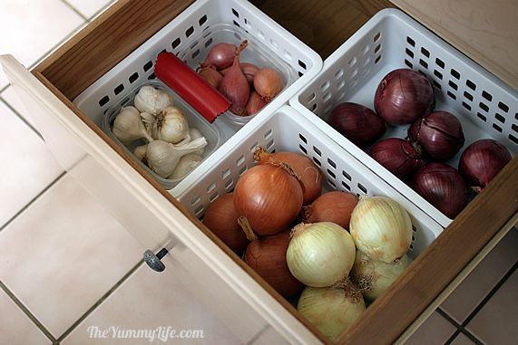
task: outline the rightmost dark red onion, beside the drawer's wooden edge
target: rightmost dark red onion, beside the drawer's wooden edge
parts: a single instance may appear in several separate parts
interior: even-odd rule
[[[464,149],[459,171],[470,187],[482,191],[498,172],[511,161],[511,153],[494,139],[480,139]]]

